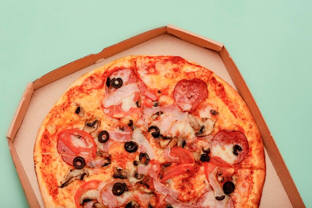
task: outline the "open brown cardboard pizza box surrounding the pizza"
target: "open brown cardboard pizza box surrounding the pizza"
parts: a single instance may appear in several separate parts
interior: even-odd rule
[[[27,85],[6,137],[30,207],[44,207],[33,161],[33,147],[44,117],[74,80],[128,55],[181,56],[214,71],[228,82],[249,106],[263,137],[267,175],[260,207],[305,207],[270,130],[226,47],[172,25],[152,29],[109,46],[100,53],[57,68]]]

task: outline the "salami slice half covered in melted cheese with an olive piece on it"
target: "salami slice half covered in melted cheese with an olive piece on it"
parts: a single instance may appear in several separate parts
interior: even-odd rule
[[[241,131],[222,130],[212,139],[211,159],[237,164],[247,156],[248,149],[247,138]]]

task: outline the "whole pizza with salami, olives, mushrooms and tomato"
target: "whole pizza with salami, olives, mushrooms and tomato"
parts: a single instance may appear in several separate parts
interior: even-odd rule
[[[127,56],[74,81],[34,162],[47,208],[255,208],[266,175],[243,99],[178,56]]]

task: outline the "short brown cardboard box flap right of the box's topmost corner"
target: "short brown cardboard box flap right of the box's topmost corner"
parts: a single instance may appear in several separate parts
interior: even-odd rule
[[[168,24],[167,26],[167,33],[172,34],[192,44],[198,45],[203,48],[209,48],[217,52],[219,52],[223,47],[222,43],[219,43],[215,40],[211,40],[201,35],[197,35],[193,32],[189,32],[187,30],[184,30],[182,28],[179,28],[170,24]]]

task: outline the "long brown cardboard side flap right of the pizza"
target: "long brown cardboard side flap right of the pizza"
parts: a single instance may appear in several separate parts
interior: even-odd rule
[[[236,64],[234,63],[233,59],[231,58],[229,52],[223,46],[221,51],[219,52],[224,65],[228,69],[228,72],[234,82],[235,87],[237,88],[239,94],[244,99],[245,103],[248,105],[249,109],[251,110],[252,115],[255,118],[255,121],[258,125],[258,128],[261,132],[263,143],[265,148],[268,151],[268,155],[270,156],[274,168],[281,179],[281,182],[288,194],[290,201],[292,202],[295,208],[304,208],[305,204],[299,194],[299,191],[292,179],[292,176],[285,164],[285,161],[280,154],[280,151],[271,135],[268,125],[266,124],[261,111],[256,104],[249,88],[246,85],[245,80],[243,79],[242,75],[240,74]]]

